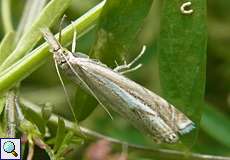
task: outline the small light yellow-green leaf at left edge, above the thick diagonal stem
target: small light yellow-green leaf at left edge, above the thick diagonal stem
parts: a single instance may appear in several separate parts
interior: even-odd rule
[[[0,64],[4,62],[4,60],[10,55],[13,50],[13,43],[15,38],[14,32],[8,32],[3,40],[0,43]]]

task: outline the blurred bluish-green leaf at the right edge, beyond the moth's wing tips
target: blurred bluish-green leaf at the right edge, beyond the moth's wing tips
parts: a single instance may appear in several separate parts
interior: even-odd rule
[[[204,104],[201,128],[212,138],[230,147],[230,118],[211,105]]]

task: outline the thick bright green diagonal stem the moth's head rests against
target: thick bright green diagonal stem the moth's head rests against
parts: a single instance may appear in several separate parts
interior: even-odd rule
[[[75,29],[77,30],[78,38],[92,29],[99,18],[104,3],[105,1],[101,2],[71,25],[67,26],[62,32],[62,44],[68,45],[71,43]],[[58,37],[58,35],[56,35],[56,37]],[[0,73],[0,94],[36,70],[42,64],[42,61],[50,55],[48,49],[48,44],[44,43],[24,56],[20,61],[7,68],[4,72]]]

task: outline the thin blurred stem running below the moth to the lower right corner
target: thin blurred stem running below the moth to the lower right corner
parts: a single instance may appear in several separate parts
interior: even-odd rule
[[[33,110],[34,112],[41,114],[41,108],[30,101],[20,98],[20,103],[22,106],[29,108]],[[106,139],[113,143],[114,145],[122,146],[123,144],[127,144],[127,142],[120,141],[118,139],[114,139],[112,137],[104,136],[98,132],[89,130],[84,127],[80,127],[81,131],[77,130],[75,124],[69,120],[64,119],[66,129],[73,131],[76,135],[81,135],[83,132],[86,135],[87,141],[95,141],[98,139]],[[55,114],[52,114],[49,122],[52,124],[57,125],[58,124],[58,116]],[[127,144],[129,147],[129,152],[134,152],[138,155],[142,155],[148,158],[152,157],[161,157],[161,158],[167,158],[167,159],[190,159],[190,160],[230,160],[230,157],[222,157],[222,156],[213,156],[213,155],[205,155],[205,154],[199,154],[199,153],[186,153],[176,150],[169,150],[169,149],[153,149],[153,148],[147,148],[140,145],[135,144]]]

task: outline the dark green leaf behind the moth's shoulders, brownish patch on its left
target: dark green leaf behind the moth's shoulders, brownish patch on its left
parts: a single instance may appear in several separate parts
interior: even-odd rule
[[[128,53],[129,48],[137,45],[134,40],[137,38],[152,2],[153,0],[146,0],[144,3],[138,0],[106,1],[100,16],[97,39],[91,51],[93,57],[99,58],[109,66],[114,66],[115,60],[120,62],[121,56]],[[91,96],[83,92],[77,93],[78,96],[80,94],[82,97],[87,96],[85,102],[80,102],[81,107],[78,109],[79,114],[82,114],[81,118],[85,119],[97,105]]]

